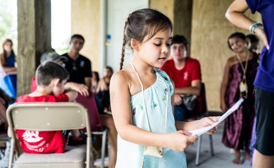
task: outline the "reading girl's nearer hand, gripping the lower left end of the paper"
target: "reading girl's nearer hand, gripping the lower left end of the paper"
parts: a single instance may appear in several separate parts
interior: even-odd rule
[[[176,152],[182,152],[191,146],[197,139],[198,136],[190,136],[192,133],[189,133],[184,130],[179,130],[167,134],[166,142],[167,148],[170,148]]]

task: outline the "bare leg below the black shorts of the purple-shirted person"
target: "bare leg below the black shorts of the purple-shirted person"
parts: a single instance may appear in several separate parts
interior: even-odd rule
[[[274,156],[263,155],[256,149],[254,150],[253,160],[252,160],[253,168],[273,168],[274,167]]]

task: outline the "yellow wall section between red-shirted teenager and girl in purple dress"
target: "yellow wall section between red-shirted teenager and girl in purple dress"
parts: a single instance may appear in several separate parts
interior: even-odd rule
[[[220,86],[225,61],[234,55],[228,48],[227,38],[239,31],[225,18],[225,12],[233,0],[193,0],[191,57],[201,63],[202,81],[206,85],[206,97],[209,110],[220,111]],[[261,22],[258,13],[248,16]],[[262,44],[262,42],[261,42]]]

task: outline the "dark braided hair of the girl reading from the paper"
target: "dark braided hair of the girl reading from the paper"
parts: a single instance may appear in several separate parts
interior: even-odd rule
[[[142,43],[146,36],[148,36],[147,40],[149,40],[157,32],[167,29],[171,29],[172,31],[171,20],[157,10],[140,9],[129,14],[124,27],[120,70],[123,68],[126,46],[129,45],[132,49],[130,45],[131,39],[135,39]]]

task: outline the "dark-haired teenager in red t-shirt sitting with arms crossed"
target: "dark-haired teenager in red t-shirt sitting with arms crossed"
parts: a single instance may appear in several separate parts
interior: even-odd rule
[[[201,112],[201,67],[198,60],[187,57],[188,42],[184,36],[176,35],[171,39],[172,59],[159,68],[165,71],[175,84],[174,118],[175,121],[184,121],[184,117],[195,116]],[[193,111],[183,104],[186,94],[198,95]]]

